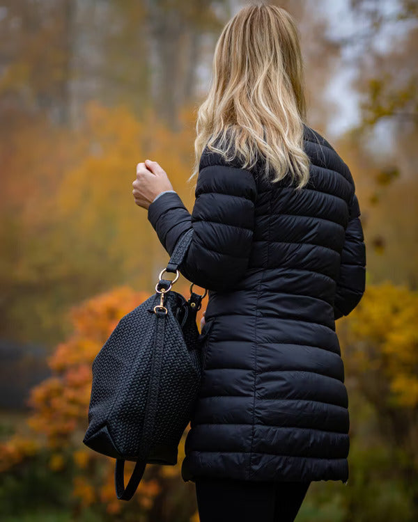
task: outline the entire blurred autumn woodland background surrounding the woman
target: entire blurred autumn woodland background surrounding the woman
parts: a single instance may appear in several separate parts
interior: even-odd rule
[[[93,358],[168,261],[134,204],[136,165],[158,161],[191,212],[196,109],[243,5],[0,0],[3,522],[199,521],[184,438],[130,503],[82,438]],[[300,27],[308,124],[353,173],[367,251],[366,293],[336,323],[350,479],[313,483],[297,521],[417,521],[418,1],[277,5]]]

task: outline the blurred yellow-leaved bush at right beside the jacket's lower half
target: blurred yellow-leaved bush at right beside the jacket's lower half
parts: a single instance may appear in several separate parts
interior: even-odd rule
[[[417,319],[417,290],[385,281],[367,285],[337,323],[350,394],[353,520],[367,509],[376,516],[380,496],[382,519],[418,516]]]

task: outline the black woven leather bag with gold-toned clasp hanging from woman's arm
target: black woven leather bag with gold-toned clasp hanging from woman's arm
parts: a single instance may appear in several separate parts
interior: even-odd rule
[[[116,459],[115,487],[130,500],[146,464],[177,464],[178,444],[189,423],[201,383],[201,340],[196,313],[206,296],[171,290],[192,240],[176,244],[150,296],[118,322],[93,361],[93,382],[84,444]],[[175,272],[173,280],[162,279]],[[125,487],[125,461],[135,461]]]

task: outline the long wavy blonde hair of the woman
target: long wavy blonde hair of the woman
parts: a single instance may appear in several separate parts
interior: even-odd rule
[[[303,149],[306,110],[293,17],[277,6],[245,6],[224,26],[215,47],[208,96],[197,114],[189,180],[199,173],[207,146],[225,161],[240,157],[247,169],[263,157],[265,174],[274,171],[272,182],[290,173],[296,188],[302,188],[309,180]]]

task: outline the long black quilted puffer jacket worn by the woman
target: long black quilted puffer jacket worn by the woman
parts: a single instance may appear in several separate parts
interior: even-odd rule
[[[268,182],[206,149],[189,214],[164,193],[148,220],[180,272],[209,290],[203,382],[183,480],[348,480],[349,415],[335,319],[365,289],[366,249],[348,166],[305,127],[309,185]]]

